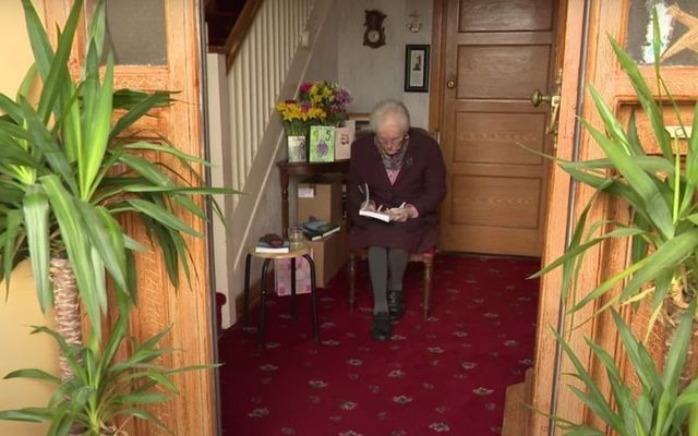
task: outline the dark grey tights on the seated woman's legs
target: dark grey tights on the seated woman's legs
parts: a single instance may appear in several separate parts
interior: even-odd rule
[[[369,272],[373,287],[374,314],[388,311],[388,289],[402,291],[402,276],[409,258],[407,250],[387,246],[369,247]]]

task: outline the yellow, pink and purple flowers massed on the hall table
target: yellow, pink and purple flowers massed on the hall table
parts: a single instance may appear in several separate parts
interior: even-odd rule
[[[276,105],[288,135],[306,135],[311,124],[337,125],[347,118],[351,95],[333,82],[304,82],[298,100]]]

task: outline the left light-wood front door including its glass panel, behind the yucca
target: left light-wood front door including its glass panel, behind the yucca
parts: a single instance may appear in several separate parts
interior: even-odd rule
[[[64,23],[72,0],[45,0],[44,9],[49,32],[55,23]],[[92,2],[85,1],[92,11]],[[177,102],[160,110],[157,117],[144,120],[139,134],[149,138],[167,137],[183,152],[203,157],[202,53],[200,39],[200,1],[191,0],[122,0],[107,1],[107,26],[116,55],[116,88],[176,90]],[[76,37],[75,61],[82,59],[85,32]],[[180,173],[188,174],[180,162],[168,161]],[[197,174],[185,182],[196,184]],[[191,215],[184,220],[205,233],[204,222]],[[205,241],[188,239],[193,268],[192,288],[184,276],[174,289],[157,246],[135,222],[124,222],[129,232],[148,249],[136,255],[139,303],[131,318],[131,332],[139,341],[172,326],[163,347],[178,350],[163,358],[161,364],[180,367],[213,363],[210,298],[208,294],[207,252]],[[176,375],[180,390],[171,401],[148,410],[177,435],[215,434],[215,378],[213,371],[195,371]],[[129,435],[164,435],[154,423],[129,422]]]

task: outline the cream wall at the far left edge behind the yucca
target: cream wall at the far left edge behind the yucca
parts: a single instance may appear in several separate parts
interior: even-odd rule
[[[40,1],[34,0],[38,11]],[[24,14],[20,0],[0,2],[0,93],[14,98],[24,73],[32,63],[26,38]],[[11,371],[39,367],[53,374],[57,350],[47,335],[29,335],[32,325],[47,325],[49,320],[38,310],[34,280],[28,264],[22,264],[12,275],[10,291],[0,283],[0,410],[46,405],[51,386],[23,379],[4,380]],[[0,421],[0,435],[35,436],[46,429],[37,424]]]

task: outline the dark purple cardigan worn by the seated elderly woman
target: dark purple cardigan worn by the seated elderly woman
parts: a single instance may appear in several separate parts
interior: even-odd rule
[[[371,245],[423,252],[436,244],[438,207],[446,195],[444,159],[438,144],[423,130],[410,129],[410,141],[402,168],[390,184],[383,167],[374,135],[362,135],[351,144],[348,213],[351,219],[350,249]],[[371,199],[384,207],[398,207],[402,202],[417,207],[419,217],[406,222],[383,222],[359,216],[364,201],[359,185],[369,184]]]

